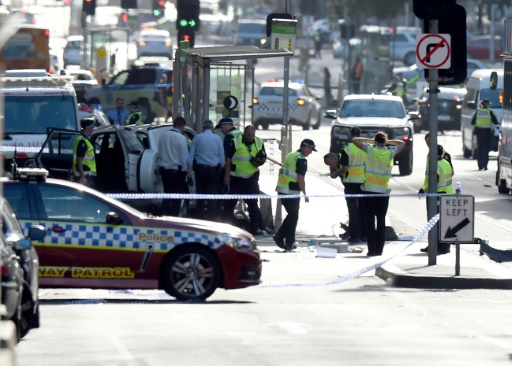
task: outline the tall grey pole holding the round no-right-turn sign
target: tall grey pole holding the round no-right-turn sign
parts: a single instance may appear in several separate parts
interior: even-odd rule
[[[430,22],[430,32],[437,33],[438,20],[425,20]],[[437,193],[437,115],[438,115],[438,71],[437,69],[429,70],[429,103],[430,103],[430,114],[429,114],[429,169],[428,169],[428,193]],[[430,221],[432,217],[437,214],[437,200],[436,196],[427,197],[427,216]],[[437,238],[438,238],[439,225],[436,224],[428,232],[428,265],[433,266],[437,260]]]

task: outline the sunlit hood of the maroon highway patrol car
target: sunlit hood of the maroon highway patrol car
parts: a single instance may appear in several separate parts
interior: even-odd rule
[[[175,216],[159,216],[144,219],[144,224],[151,227],[166,227],[171,224],[176,229],[205,231],[209,233],[229,234],[236,237],[251,239],[252,235],[236,226],[214,221],[187,219]]]

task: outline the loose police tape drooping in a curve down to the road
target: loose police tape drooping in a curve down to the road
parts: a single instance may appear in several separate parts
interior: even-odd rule
[[[418,234],[416,234],[416,236],[411,240],[411,242],[408,243],[405,247],[403,247],[397,253],[395,253],[379,262],[373,263],[369,266],[363,267],[361,269],[358,269],[358,270],[348,273],[346,275],[339,276],[338,278],[336,278],[334,280],[327,281],[327,282],[321,282],[321,283],[278,283],[278,284],[258,285],[258,286],[254,286],[254,287],[250,287],[250,288],[323,287],[323,286],[332,286],[332,285],[336,285],[341,282],[346,282],[346,281],[352,280],[354,278],[361,276],[362,274],[364,274],[366,272],[369,272],[369,271],[372,271],[374,269],[381,267],[383,264],[389,262],[391,259],[395,258],[400,253],[404,252],[407,248],[409,248],[411,245],[413,245],[419,239],[421,239],[425,234],[427,234],[438,221],[439,221],[439,214],[436,214],[427,222],[425,227],[423,229],[421,229],[418,232]]]

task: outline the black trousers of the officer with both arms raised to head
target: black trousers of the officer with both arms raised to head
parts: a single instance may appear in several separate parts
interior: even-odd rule
[[[373,194],[372,192],[367,192]],[[368,254],[381,255],[386,241],[386,214],[389,196],[365,197],[361,200],[366,217],[366,237],[368,238]],[[375,226],[377,223],[377,226]]]

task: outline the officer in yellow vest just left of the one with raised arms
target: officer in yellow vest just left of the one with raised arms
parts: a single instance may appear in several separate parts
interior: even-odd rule
[[[341,182],[345,186],[345,194],[353,196],[361,194],[361,185],[364,182],[364,167],[368,156],[352,142],[354,137],[361,136],[361,129],[352,127],[348,136],[349,143],[343,148],[341,154],[326,154],[324,163],[331,168],[331,178],[341,178]],[[366,241],[366,225],[359,198],[348,196],[345,197],[350,234],[347,240],[349,243],[355,244]]]

